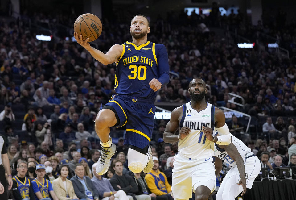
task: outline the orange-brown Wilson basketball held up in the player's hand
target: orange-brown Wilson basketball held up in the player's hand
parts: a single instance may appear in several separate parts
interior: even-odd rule
[[[74,31],[78,37],[82,35],[82,40],[89,38],[89,42],[95,41],[102,32],[101,20],[91,13],[80,15],[74,23]]]

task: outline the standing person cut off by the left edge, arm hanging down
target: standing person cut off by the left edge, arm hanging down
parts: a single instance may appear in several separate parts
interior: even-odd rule
[[[9,165],[9,159],[7,156],[7,149],[6,144],[4,142],[4,136],[0,134],[0,151],[1,151],[1,158],[0,158],[0,199],[7,200],[7,183],[5,178],[5,172],[8,176],[8,190],[12,187],[12,177],[11,177],[11,170]]]

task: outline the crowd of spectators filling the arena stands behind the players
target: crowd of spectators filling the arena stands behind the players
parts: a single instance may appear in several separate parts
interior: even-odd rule
[[[59,16],[54,22],[62,23],[62,19],[63,25],[72,24],[76,18],[69,16]],[[208,102],[247,113],[261,122],[254,123],[259,127],[255,131],[256,139],[259,138],[256,145],[253,141],[247,145],[260,157],[262,166],[273,169],[296,165],[292,155],[296,153],[295,23],[270,27],[263,20],[264,28],[260,26],[262,22],[251,26],[240,12],[220,16],[215,5],[208,17],[203,14],[188,17],[183,12],[170,16],[167,20],[152,21],[148,34],[148,40],[167,47],[172,72],[170,83],[158,92],[155,102],[181,105],[190,101],[188,83],[192,77],[203,77]],[[52,19],[35,14],[33,22],[50,23]],[[94,42],[101,51],[130,40],[129,23],[112,23],[107,19],[102,23],[103,32]],[[285,46],[289,44],[290,59],[274,56],[264,48],[239,49],[229,35],[217,35],[207,28],[225,24],[230,30],[239,28],[239,33],[250,39],[256,38],[257,31],[276,34]],[[118,27],[125,31],[114,31]],[[144,177],[129,172],[127,148],[120,129],[115,128],[111,134],[118,145],[116,160],[104,176],[93,173],[100,156],[94,119],[100,107],[115,94],[116,65],[102,65],[71,40],[53,37],[51,42],[39,41],[35,34],[16,20],[0,21],[0,123],[5,127],[3,135],[13,175],[20,180],[24,176],[30,180],[47,179],[52,182],[48,191],[54,199],[66,200],[67,195],[73,199],[90,196],[104,200],[171,199],[172,156],[178,145],[164,144],[166,121],[155,120],[152,140],[155,165],[151,174]],[[243,97],[244,107],[238,106],[243,102],[229,93]],[[242,136],[244,124],[235,115],[227,119],[227,124],[231,133]],[[160,177],[158,185],[155,177]],[[39,190],[35,183],[33,195]],[[88,190],[83,190],[84,187]],[[17,191],[12,190],[11,195],[14,194],[17,196]],[[14,198],[20,199],[15,195]]]

